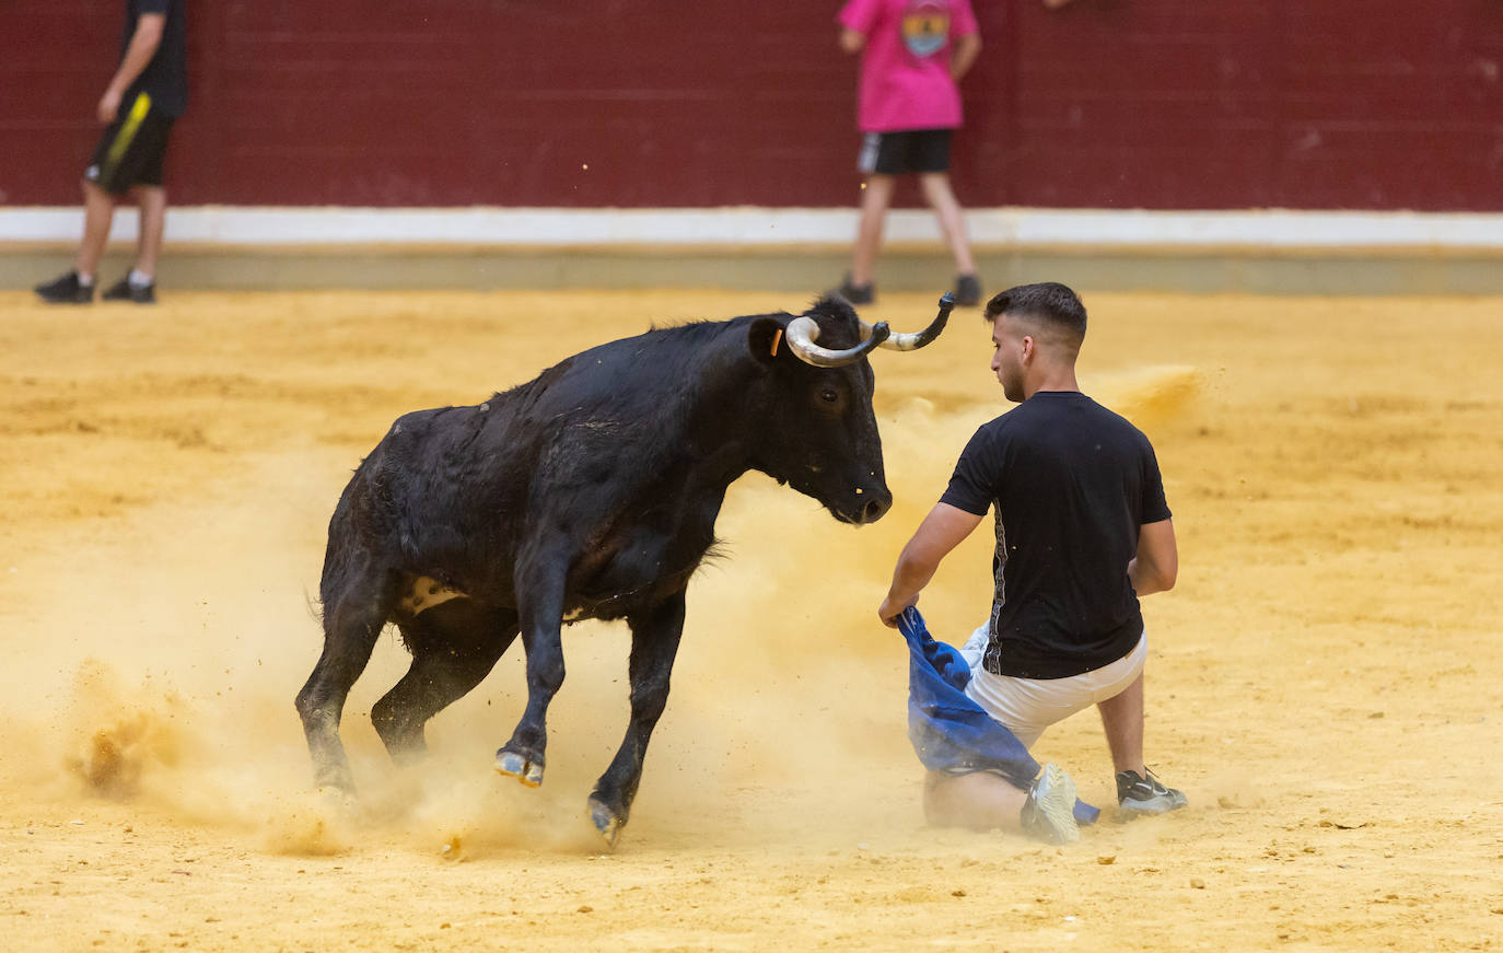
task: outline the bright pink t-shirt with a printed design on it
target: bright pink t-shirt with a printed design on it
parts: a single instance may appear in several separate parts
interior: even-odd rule
[[[836,21],[866,36],[857,114],[863,132],[960,125],[950,42],[977,32],[969,0],[849,0]]]

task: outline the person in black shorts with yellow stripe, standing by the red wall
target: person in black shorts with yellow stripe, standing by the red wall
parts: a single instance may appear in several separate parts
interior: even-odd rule
[[[162,158],[173,122],[188,108],[186,0],[125,0],[120,65],[95,113],[105,125],[84,170],[84,236],[74,271],[39,284],[36,293],[53,304],[93,301],[95,272],[110,241],[116,203],[131,195],[140,209],[135,266],[105,301],[156,301],[156,259],[167,221]]]

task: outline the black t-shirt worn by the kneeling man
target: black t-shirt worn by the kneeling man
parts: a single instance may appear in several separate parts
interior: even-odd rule
[[[1084,394],[1040,391],[975,431],[939,499],[996,510],[987,672],[1067,678],[1138,643],[1127,562],[1169,507],[1136,427]]]

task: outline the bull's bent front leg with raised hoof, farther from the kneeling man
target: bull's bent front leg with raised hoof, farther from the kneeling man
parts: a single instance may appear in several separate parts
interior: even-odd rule
[[[549,703],[564,684],[564,559],[537,561],[526,576],[517,573],[517,610],[522,648],[528,654],[528,708],[511,741],[496,752],[496,770],[529,788],[543,783],[544,750],[549,744]]]

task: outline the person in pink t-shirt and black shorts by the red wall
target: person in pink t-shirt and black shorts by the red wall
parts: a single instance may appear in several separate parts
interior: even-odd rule
[[[866,176],[855,254],[840,293],[851,304],[875,301],[882,221],[897,176],[917,174],[954,256],[956,304],[980,304],[965,213],[950,188],[950,135],[962,120],[956,83],[981,51],[969,0],[849,0],[836,21],[840,48],[861,53],[857,167]]]

